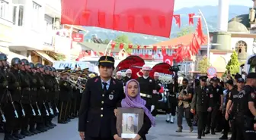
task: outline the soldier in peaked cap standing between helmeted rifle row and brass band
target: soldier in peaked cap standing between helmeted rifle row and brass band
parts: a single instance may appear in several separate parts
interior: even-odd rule
[[[72,86],[67,82],[67,76],[69,75],[69,70],[63,70],[60,73],[61,76],[65,76],[59,79],[59,116],[58,123],[68,123],[68,102],[69,94],[72,90]]]

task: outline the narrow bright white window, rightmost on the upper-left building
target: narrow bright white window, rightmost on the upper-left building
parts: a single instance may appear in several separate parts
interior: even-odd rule
[[[32,28],[37,29],[40,25],[40,9],[41,6],[38,5],[36,2],[33,2],[33,8],[32,8]]]

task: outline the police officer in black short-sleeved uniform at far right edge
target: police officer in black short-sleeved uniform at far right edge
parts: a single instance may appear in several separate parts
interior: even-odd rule
[[[256,73],[248,73],[246,84],[238,93],[237,114],[235,116],[235,128],[238,132],[236,139],[251,140],[256,137],[255,87]]]

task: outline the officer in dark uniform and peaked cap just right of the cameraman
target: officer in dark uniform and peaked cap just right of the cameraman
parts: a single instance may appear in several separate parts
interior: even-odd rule
[[[206,79],[207,76],[200,76],[200,82],[204,83],[204,85],[195,87],[191,102],[191,111],[194,113],[197,110],[197,138],[205,135],[207,111],[210,111],[213,100],[213,97],[210,97],[210,89],[206,86]]]

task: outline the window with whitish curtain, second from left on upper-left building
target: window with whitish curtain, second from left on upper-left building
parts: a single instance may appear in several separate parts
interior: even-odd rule
[[[16,26],[23,26],[24,5],[13,6],[12,22]]]

